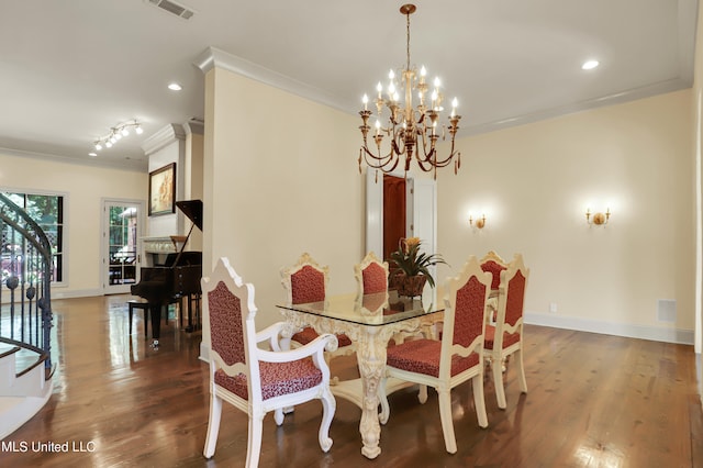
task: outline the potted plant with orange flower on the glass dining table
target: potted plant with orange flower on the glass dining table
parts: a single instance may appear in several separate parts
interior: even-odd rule
[[[421,250],[420,237],[401,238],[398,242],[398,250],[391,253],[391,260],[395,264],[395,271],[391,274],[389,281],[391,287],[398,289],[400,296],[421,296],[425,281],[429,287],[435,287],[435,281],[429,274],[429,267],[446,261],[439,254],[425,254]]]

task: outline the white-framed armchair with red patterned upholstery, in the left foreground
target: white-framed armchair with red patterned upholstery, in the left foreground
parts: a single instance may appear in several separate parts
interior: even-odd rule
[[[276,424],[281,425],[283,408],[313,399],[320,399],[323,406],[320,447],[330,450],[336,403],[330,391],[324,350],[336,347],[335,336],[324,334],[305,346],[280,352],[279,335],[284,324],[279,322],[256,333],[254,286],[245,285],[226,258],[217,261],[201,285],[211,339],[210,419],[203,455],[210,458],[215,453],[223,401],[249,416],[247,467],[258,466],[266,413],[275,411]],[[258,347],[265,341],[271,350]]]

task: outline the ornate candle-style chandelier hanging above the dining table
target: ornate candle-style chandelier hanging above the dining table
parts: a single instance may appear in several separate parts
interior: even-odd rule
[[[386,88],[386,98],[383,98],[383,86],[379,81],[376,87],[378,96],[376,98],[377,119],[375,131],[372,134],[369,125],[371,111],[368,110],[369,98],[364,94],[364,110],[359,111],[362,124],[359,126],[364,137],[364,145],[359,151],[359,174],[361,172],[361,161],[364,160],[369,168],[378,169],[383,172],[392,172],[398,167],[401,159],[404,159],[404,171],[408,176],[411,161],[417,160],[420,168],[425,171],[434,172],[437,178],[437,168],[448,166],[454,160],[454,174],[461,166],[461,153],[455,149],[454,138],[459,130],[459,120],[461,115],[457,115],[456,108],[458,105],[455,98],[451,102],[451,113],[449,114],[449,125],[445,129],[437,129],[439,114],[444,111],[442,102],[444,96],[439,89],[440,81],[435,78],[433,89],[429,92],[429,86],[426,81],[427,71],[425,67],[421,67],[420,74],[416,68],[410,65],[410,15],[416,10],[414,4],[404,4],[400,8],[400,12],[408,19],[408,40],[406,40],[406,63],[405,68],[399,70],[400,79],[404,86],[404,105],[400,102],[399,86],[395,81],[395,73],[391,69],[388,78],[389,83]],[[427,94],[429,92],[429,96]],[[413,93],[416,93],[419,103],[413,108]],[[383,111],[387,111],[387,126],[381,124]],[[445,140],[446,131],[449,133],[451,147],[446,157],[439,157],[437,154],[436,142],[442,136]],[[381,147],[383,137],[390,137],[390,148],[384,145]],[[372,146],[369,148],[369,138],[372,138]],[[456,158],[455,158],[456,156]]]

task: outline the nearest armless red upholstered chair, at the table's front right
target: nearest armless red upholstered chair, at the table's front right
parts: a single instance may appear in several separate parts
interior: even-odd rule
[[[490,274],[482,271],[478,259],[471,256],[459,276],[450,278],[446,285],[442,341],[421,338],[388,348],[387,376],[381,380],[379,394],[386,398],[389,377],[434,387],[439,395],[445,447],[450,454],[457,452],[451,421],[450,391],[454,387],[471,380],[479,426],[488,426],[483,399],[483,336],[490,285]],[[420,402],[425,401],[426,392],[424,395],[421,392]]]

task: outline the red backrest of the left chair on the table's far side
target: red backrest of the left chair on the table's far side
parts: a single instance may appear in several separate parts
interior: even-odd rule
[[[304,253],[298,263],[281,268],[281,282],[289,304],[302,304],[325,300],[330,268],[322,267],[310,254]]]

